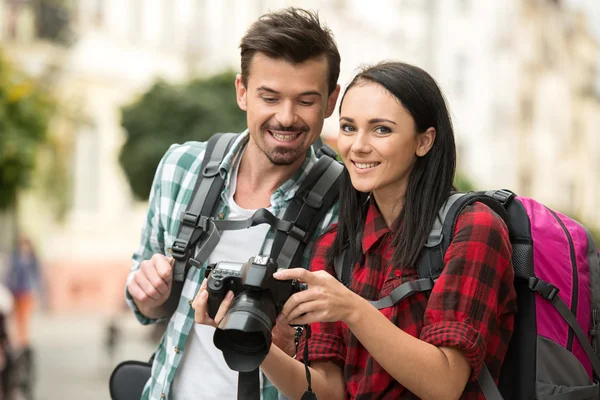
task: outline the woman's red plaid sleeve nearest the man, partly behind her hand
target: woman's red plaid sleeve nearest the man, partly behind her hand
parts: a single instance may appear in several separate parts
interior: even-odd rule
[[[313,257],[310,261],[310,271],[326,270],[335,275],[333,267],[327,266],[327,250],[333,244],[335,239],[335,230],[332,229],[323,235],[313,247]],[[342,322],[316,322],[310,325],[310,337],[307,336],[307,330],[304,330],[300,341],[296,358],[300,361],[305,360],[308,355],[308,361],[334,361],[337,364],[344,364],[346,359],[346,345],[342,334]],[[305,351],[308,354],[305,354]]]

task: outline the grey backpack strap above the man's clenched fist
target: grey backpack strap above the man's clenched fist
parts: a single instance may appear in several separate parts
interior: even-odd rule
[[[188,260],[196,243],[204,233],[199,226],[200,217],[210,217],[215,211],[225,184],[219,173],[219,165],[237,136],[238,134],[234,133],[216,134],[208,140],[196,186],[186,211],[182,213],[179,233],[173,243],[174,282],[185,280],[189,269]]]

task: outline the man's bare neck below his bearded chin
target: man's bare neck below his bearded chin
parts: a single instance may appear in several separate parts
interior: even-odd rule
[[[243,208],[269,207],[273,193],[290,179],[304,162],[299,158],[291,165],[274,165],[250,140],[240,160],[235,202]]]

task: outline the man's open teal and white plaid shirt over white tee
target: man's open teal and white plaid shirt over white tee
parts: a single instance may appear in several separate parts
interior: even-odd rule
[[[216,216],[219,219],[227,218],[229,172],[233,168],[233,163],[238,161],[238,155],[241,154],[248,138],[248,131],[241,134],[220,165],[220,173],[225,177],[225,188],[221,193],[221,199],[217,206]],[[190,201],[205,149],[206,143],[199,142],[173,145],[160,161],[152,184],[148,214],[142,229],[140,247],[133,255],[133,267],[127,282],[133,277],[134,272],[139,269],[143,260],[150,259],[155,253],[171,253],[171,246],[179,230],[179,215],[185,211]],[[273,214],[279,218],[283,217],[287,204],[294,197],[296,190],[316,161],[317,158],[311,148],[297,173],[273,193],[271,197]],[[335,221],[337,221],[337,204],[329,210],[327,216],[321,221],[319,230],[313,234],[311,242],[308,243],[303,255],[302,266],[304,268],[308,266],[312,243]],[[275,230],[270,229],[263,242],[261,254],[270,253],[274,238]],[[175,370],[183,356],[186,340],[194,324],[194,310],[191,307],[191,302],[204,279],[205,268],[206,263],[202,269],[191,268],[186,277],[177,311],[171,317],[167,331],[156,352],[152,365],[152,378],[144,388],[143,399],[154,400],[169,397]],[[139,312],[128,291],[126,291],[126,300],[142,324],[157,322]],[[264,400],[274,400],[278,397],[277,390],[266,377],[261,397]]]

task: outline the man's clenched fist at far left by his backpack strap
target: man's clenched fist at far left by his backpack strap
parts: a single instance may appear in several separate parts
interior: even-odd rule
[[[164,317],[162,306],[171,294],[173,261],[162,254],[153,255],[150,260],[142,261],[127,285],[140,312],[148,318]]]

